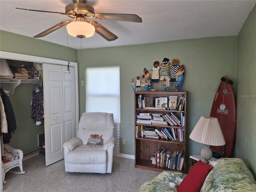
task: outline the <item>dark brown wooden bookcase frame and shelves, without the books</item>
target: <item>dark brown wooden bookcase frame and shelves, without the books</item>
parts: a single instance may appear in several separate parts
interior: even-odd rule
[[[180,98],[184,96],[184,106],[182,108],[178,108],[179,110],[169,110],[169,109],[158,109],[155,108],[155,99],[160,97],[167,97],[168,98],[168,107],[169,107],[169,96],[177,96],[177,102],[179,102]],[[147,98],[149,100],[149,108],[146,108],[144,105],[140,105],[140,97]],[[146,100],[146,99],[145,99]],[[187,118],[187,100],[188,100],[188,92],[174,92],[174,91],[135,91],[134,92],[134,131],[135,131],[135,167],[136,168],[143,168],[147,170],[156,170],[156,171],[164,171],[164,170],[172,170],[177,172],[182,172],[181,170],[171,169],[168,167],[161,167],[157,166],[156,164],[152,164],[151,157],[153,157],[156,152],[160,148],[166,149],[166,151],[174,152],[174,151],[183,151],[184,152],[184,163],[183,167],[186,163],[186,118]],[[141,102],[142,103],[142,102]],[[148,124],[148,123],[138,123],[137,115],[139,114],[160,114],[164,116],[166,114],[174,113],[178,118],[182,118],[182,126],[176,126],[168,124]],[[182,115],[182,116],[181,116]],[[146,138],[143,136],[136,137],[136,126],[139,130],[144,130],[147,128],[154,128],[161,130],[162,128],[167,128],[170,132],[173,130],[178,130],[182,132],[179,137],[177,136],[176,140],[172,139],[153,139],[153,138]]]

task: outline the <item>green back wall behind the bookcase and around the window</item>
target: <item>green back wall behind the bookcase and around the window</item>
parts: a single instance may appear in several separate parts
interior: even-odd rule
[[[144,67],[150,70],[154,61],[164,58],[179,59],[185,66],[182,90],[188,90],[188,154],[200,154],[203,147],[188,138],[201,116],[209,116],[212,101],[222,76],[236,82],[236,36],[200,38],[82,50],[78,51],[79,79],[85,79],[84,70],[92,66],[120,66],[121,123],[120,153],[134,155],[134,92],[131,79],[143,75]],[[95,83],[104,77],[95,77]],[[111,83],[111,82],[110,82]],[[158,85],[158,89],[161,85]],[[172,85],[172,90],[174,86]],[[235,88],[235,83],[234,83]],[[79,90],[80,114],[85,112],[85,86]],[[234,90],[235,91],[235,90]]]

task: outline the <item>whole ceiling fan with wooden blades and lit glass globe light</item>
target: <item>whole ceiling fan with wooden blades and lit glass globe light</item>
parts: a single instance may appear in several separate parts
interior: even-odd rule
[[[93,33],[88,36],[78,33],[78,34],[76,34],[76,37],[78,37],[78,38],[90,37],[94,34],[94,30],[95,30],[96,33],[98,33],[100,36],[102,36],[106,40],[113,41],[118,38],[115,34],[110,32],[108,29],[106,29],[104,26],[102,26],[98,22],[96,22],[94,20],[88,21],[86,19],[93,18],[96,20],[119,20],[119,21],[128,21],[128,22],[142,22],[142,19],[135,14],[95,13],[94,8],[92,6],[86,4],[86,0],[73,0],[72,4],[68,4],[65,7],[65,13],[42,11],[42,10],[31,10],[31,9],[24,9],[24,8],[16,8],[16,9],[38,11],[38,12],[48,12],[48,13],[58,13],[58,14],[62,14],[62,15],[66,15],[71,18],[74,18],[73,20],[62,21],[59,24],[56,24],[55,26],[41,32],[40,34],[37,34],[36,36],[34,36],[34,38],[44,37],[44,36],[50,34],[51,32],[54,32],[55,30],[65,26],[65,25],[68,25],[68,24],[70,24],[70,26],[67,26],[67,30],[68,30],[68,28],[70,28],[70,30],[72,30],[72,28],[74,28],[74,26],[71,26],[71,23],[78,24],[78,22],[79,22],[80,24],[87,24],[88,28],[93,28],[92,29]],[[81,27],[78,27],[78,28],[81,29]],[[69,31],[68,31],[68,33],[69,33]]]

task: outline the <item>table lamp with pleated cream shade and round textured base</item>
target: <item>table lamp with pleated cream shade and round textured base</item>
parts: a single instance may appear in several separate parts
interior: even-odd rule
[[[203,162],[209,164],[212,158],[212,150],[210,146],[223,146],[226,144],[220,124],[215,117],[202,116],[192,130],[190,139],[204,144],[201,150]]]

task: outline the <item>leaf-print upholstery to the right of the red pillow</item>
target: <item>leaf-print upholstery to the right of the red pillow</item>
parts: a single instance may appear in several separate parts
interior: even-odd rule
[[[200,192],[256,192],[256,181],[240,158],[220,158]]]

